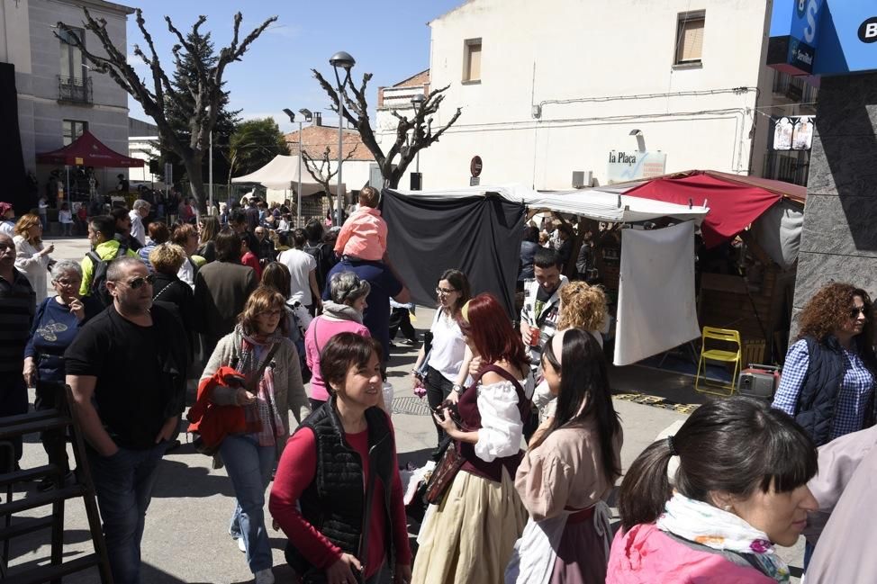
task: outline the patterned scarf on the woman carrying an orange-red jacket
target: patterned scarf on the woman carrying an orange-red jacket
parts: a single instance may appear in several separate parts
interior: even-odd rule
[[[280,412],[276,408],[276,398],[274,392],[274,364],[268,364],[262,373],[262,378],[258,380],[250,379],[258,370],[258,359],[256,357],[256,347],[261,348],[261,355],[264,359],[268,351],[275,343],[280,341],[279,335],[273,335],[267,339],[266,343],[259,343],[254,337],[245,335],[243,329],[238,325],[235,327],[235,339],[240,339],[240,358],[236,370],[243,374],[248,380],[249,391],[256,389],[256,402],[251,406],[244,408],[244,413],[248,423],[258,421],[259,431],[256,433],[258,445],[273,446],[276,445],[277,436],[284,435],[283,420],[280,418]],[[272,358],[272,361],[274,358]]]

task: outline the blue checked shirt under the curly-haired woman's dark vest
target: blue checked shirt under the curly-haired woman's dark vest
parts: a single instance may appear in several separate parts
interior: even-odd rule
[[[841,347],[844,353],[844,381],[840,384],[835,403],[835,415],[831,421],[830,440],[852,434],[862,429],[865,410],[874,391],[874,378],[855,351]],[[782,409],[790,416],[798,412],[800,389],[809,369],[807,341],[800,339],[789,347],[782,367],[780,387],[773,396],[773,408]]]

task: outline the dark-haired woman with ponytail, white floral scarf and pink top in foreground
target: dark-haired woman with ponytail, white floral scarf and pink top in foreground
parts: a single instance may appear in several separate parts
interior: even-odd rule
[[[621,481],[607,584],[789,582],[774,544],[794,545],[818,508],[807,488],[817,465],[813,441],[779,409],[702,405]]]

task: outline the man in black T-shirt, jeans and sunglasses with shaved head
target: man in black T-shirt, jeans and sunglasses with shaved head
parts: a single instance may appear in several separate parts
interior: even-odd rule
[[[140,539],[158,462],[185,405],[185,331],[152,305],[154,282],[140,259],[114,259],[106,274],[113,304],[64,354],[118,583],[140,581]]]

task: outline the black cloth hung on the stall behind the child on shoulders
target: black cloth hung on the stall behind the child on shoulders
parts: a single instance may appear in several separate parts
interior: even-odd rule
[[[462,270],[473,295],[492,292],[515,319],[514,295],[526,208],[499,195],[429,200],[384,189],[388,253],[418,304],[436,305],[436,283]]]

